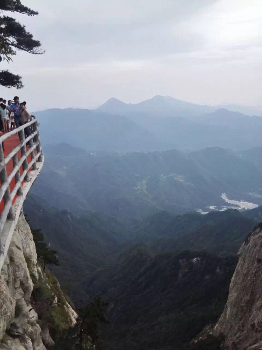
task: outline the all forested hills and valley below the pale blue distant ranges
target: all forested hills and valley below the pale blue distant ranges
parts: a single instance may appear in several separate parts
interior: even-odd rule
[[[46,147],[24,211],[58,251],[52,271],[75,304],[109,303],[101,349],[189,349],[217,321],[239,247],[262,218],[262,206],[238,210],[262,204],[259,152],[246,154]]]

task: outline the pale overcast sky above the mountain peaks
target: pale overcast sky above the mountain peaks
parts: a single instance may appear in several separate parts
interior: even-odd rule
[[[30,110],[94,107],[156,94],[200,104],[262,104],[261,0],[23,0],[15,14],[46,53],[19,52]],[[1,63],[6,67],[6,63]]]

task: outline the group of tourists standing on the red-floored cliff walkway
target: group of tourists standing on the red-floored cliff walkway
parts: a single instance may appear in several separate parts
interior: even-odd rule
[[[26,102],[19,101],[19,97],[15,96],[13,100],[6,100],[0,97],[0,113],[1,113],[1,130],[9,132],[21,125],[26,124],[31,119],[31,114],[26,108]],[[27,128],[26,128],[27,129]],[[24,130],[25,134],[30,134],[30,129]]]

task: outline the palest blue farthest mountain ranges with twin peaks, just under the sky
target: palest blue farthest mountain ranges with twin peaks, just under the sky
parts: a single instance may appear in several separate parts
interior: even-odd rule
[[[197,150],[213,146],[237,151],[261,146],[261,116],[168,96],[157,95],[138,104],[111,98],[96,110],[50,109],[35,114],[41,123],[43,145],[56,139],[57,143],[67,142],[88,152]]]

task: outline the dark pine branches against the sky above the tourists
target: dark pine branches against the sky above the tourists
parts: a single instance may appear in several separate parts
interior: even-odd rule
[[[0,62],[12,61],[16,50],[34,55],[43,54],[41,42],[35,40],[25,26],[17,22],[15,18],[7,16],[5,12],[17,12],[28,16],[38,15],[38,12],[22,5],[20,0],[0,0]],[[23,87],[22,77],[9,70],[0,70],[0,85],[21,89]]]

